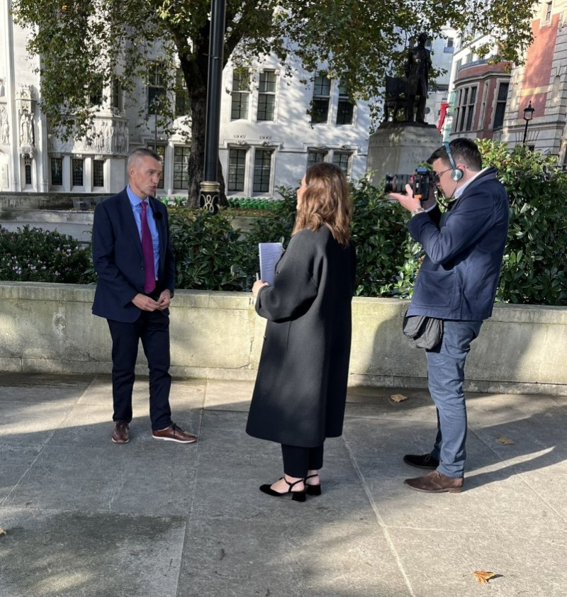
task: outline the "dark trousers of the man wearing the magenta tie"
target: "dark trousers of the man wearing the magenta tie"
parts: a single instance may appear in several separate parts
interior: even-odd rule
[[[113,420],[132,420],[132,392],[140,340],[150,369],[150,420],[152,430],[172,425],[169,408],[169,317],[162,311],[142,311],[134,323],[108,319],[112,337]]]

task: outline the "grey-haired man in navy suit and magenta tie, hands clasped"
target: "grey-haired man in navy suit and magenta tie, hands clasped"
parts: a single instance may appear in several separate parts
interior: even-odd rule
[[[189,444],[197,437],[172,422],[169,408],[169,303],[175,260],[167,210],[155,199],[162,174],[148,149],[128,158],[128,186],[94,212],[93,261],[99,275],[93,313],[108,320],[112,338],[112,441],[129,440],[140,340],[150,369],[150,419],[156,440]]]

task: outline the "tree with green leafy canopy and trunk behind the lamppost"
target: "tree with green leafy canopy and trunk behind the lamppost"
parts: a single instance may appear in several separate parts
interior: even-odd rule
[[[247,65],[274,52],[286,73],[309,72],[327,61],[354,99],[376,98],[386,72],[400,62],[407,39],[474,26],[490,33],[494,60],[517,62],[532,40],[535,0],[227,0],[225,62]],[[174,58],[191,99],[189,196],[198,198],[203,175],[210,0],[13,0],[16,22],[29,28],[28,50],[41,56],[42,109],[63,137],[88,134],[97,110],[90,98],[118,79],[133,94],[147,77],[155,51],[174,87]],[[471,23],[474,15],[474,23]],[[481,52],[481,50],[478,50]],[[165,115],[167,102],[159,106]],[[307,121],[306,121],[307,123]]]

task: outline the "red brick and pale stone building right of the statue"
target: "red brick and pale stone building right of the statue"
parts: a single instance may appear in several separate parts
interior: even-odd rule
[[[567,164],[567,0],[540,1],[532,33],[518,67],[478,60],[475,48],[485,38],[457,45],[445,138],[493,138],[514,146],[525,135],[527,146]],[[526,128],[530,102],[533,118]]]

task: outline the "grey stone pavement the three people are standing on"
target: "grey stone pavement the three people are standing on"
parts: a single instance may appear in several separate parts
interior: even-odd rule
[[[258,491],[281,459],[245,434],[252,383],[174,381],[195,445],[152,439],[146,384],[114,445],[108,376],[0,374],[1,597],[567,596],[567,397],[469,394],[465,491],[429,495],[402,462],[427,393],[351,389],[296,503]]]

